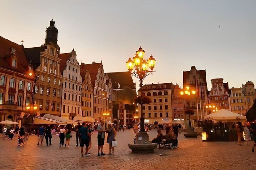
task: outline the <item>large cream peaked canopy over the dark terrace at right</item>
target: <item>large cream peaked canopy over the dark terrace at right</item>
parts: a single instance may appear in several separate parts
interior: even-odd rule
[[[222,121],[241,121],[246,120],[246,116],[231,112],[226,109],[221,109],[204,117],[206,120],[222,120]]]

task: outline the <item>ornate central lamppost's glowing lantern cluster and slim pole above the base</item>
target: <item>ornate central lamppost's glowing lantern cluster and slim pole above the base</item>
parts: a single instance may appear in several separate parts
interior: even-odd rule
[[[127,69],[130,71],[131,76],[136,77],[139,80],[139,86],[142,88],[143,80],[148,75],[153,74],[153,70],[155,67],[155,58],[151,55],[149,59],[146,61],[144,59],[145,51],[140,47],[138,51],[136,51],[135,57],[133,59],[129,58],[126,62]],[[148,68],[150,70],[148,70]],[[142,91],[141,94],[142,96]],[[141,118],[140,118],[140,128],[141,131],[145,131],[144,129],[144,117],[143,117],[143,104],[141,104]]]

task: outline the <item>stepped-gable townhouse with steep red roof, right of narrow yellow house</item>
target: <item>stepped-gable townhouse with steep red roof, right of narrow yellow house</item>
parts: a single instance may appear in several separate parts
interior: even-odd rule
[[[81,63],[80,74],[82,77],[85,77],[86,70],[90,71],[91,84],[93,86],[93,117],[96,121],[100,121],[106,118],[103,113],[108,113],[108,88],[102,62]]]

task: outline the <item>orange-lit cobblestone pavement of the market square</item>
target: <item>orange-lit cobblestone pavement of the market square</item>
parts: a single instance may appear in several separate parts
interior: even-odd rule
[[[149,132],[150,140],[156,131]],[[0,134],[2,136],[2,134]],[[75,137],[75,133],[73,133]],[[114,156],[97,156],[97,133],[92,135],[91,156],[80,157],[80,147],[71,138],[70,147],[59,147],[59,137],[53,136],[53,145],[37,146],[37,136],[30,136],[27,145],[17,146],[13,140],[0,139],[0,169],[255,169],[256,153],[250,146],[235,142],[202,142],[198,138],[178,136],[177,149],[155,149],[151,154],[135,154],[127,144],[133,143],[132,130],[117,133],[118,147]],[[104,145],[108,153],[108,144]],[[85,152],[85,150],[84,150]],[[162,156],[160,156],[160,154]]]

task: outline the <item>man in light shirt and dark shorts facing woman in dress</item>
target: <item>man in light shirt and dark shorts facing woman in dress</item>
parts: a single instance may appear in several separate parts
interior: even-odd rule
[[[101,124],[98,125],[97,127],[97,131],[98,131],[98,156],[101,155],[106,155],[106,153],[103,153],[103,145],[104,145],[104,141],[105,141],[105,127],[104,127],[105,122],[102,121]],[[100,149],[101,149],[101,154],[100,154]]]

